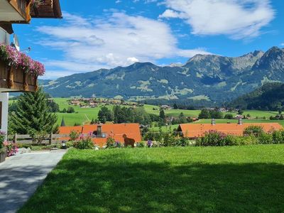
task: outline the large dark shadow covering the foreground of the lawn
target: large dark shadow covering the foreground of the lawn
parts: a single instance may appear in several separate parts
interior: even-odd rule
[[[21,212],[282,212],[284,166],[64,159]],[[124,160],[122,160],[124,159]]]

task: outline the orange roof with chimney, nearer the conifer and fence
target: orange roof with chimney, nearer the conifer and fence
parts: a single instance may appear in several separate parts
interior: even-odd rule
[[[92,134],[92,141],[97,146],[105,146],[107,138],[112,137],[115,141],[124,143],[124,135],[133,138],[135,142],[141,141],[139,124],[90,124],[84,126],[60,126],[59,133],[69,135],[71,131],[82,134]],[[67,140],[68,138],[62,138]]]

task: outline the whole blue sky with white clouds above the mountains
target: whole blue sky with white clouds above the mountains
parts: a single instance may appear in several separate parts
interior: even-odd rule
[[[14,25],[56,79],[133,62],[169,65],[195,54],[235,57],[284,48],[282,0],[60,1],[63,19]]]

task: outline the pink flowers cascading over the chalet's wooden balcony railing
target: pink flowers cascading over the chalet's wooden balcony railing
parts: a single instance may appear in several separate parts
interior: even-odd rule
[[[20,67],[31,75],[44,75],[45,73],[45,67],[42,63],[32,60],[25,53],[20,53],[4,43],[0,43],[0,60],[9,66]]]

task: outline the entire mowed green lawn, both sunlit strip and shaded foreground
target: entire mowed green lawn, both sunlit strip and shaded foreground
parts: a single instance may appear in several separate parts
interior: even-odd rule
[[[284,145],[70,150],[19,212],[283,212]]]

